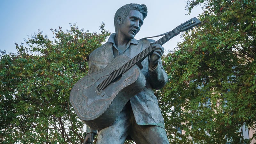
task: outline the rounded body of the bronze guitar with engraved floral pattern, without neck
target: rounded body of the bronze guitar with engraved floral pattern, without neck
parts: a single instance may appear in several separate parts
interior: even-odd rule
[[[103,129],[113,124],[125,104],[145,85],[145,76],[137,65],[132,66],[103,90],[99,85],[130,58],[118,56],[108,66],[80,79],[70,92],[70,102],[76,114],[92,129]]]

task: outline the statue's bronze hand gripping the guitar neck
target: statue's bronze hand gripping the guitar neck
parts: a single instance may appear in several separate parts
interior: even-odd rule
[[[149,61],[149,64],[152,68],[156,66],[158,60],[164,54],[164,47],[162,47],[160,44],[154,44],[153,47],[154,47],[154,52],[150,55],[150,61]]]

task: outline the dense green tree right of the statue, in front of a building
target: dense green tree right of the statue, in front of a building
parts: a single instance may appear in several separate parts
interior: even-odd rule
[[[168,136],[174,143],[250,143],[241,127],[256,128],[256,1],[191,0],[189,13],[200,4],[202,24],[163,60],[170,81],[156,93]]]

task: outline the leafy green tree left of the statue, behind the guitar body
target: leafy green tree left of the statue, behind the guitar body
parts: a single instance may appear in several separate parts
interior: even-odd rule
[[[18,53],[1,51],[1,143],[82,143],[84,124],[69,102],[72,86],[87,74],[89,54],[109,36],[70,25],[51,29],[53,40],[38,30],[16,44]]]

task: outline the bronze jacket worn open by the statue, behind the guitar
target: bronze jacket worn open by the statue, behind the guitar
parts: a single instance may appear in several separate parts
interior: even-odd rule
[[[114,35],[114,36],[113,36]],[[109,39],[115,38],[115,34],[112,34]],[[150,42],[154,40],[140,39],[131,40],[130,43],[130,58],[142,52],[146,49]],[[107,43],[101,47],[95,49],[89,56],[89,74],[97,72],[105,68],[113,59],[113,40],[108,40]],[[144,90],[130,99],[132,111],[135,117],[135,121],[138,125],[156,125],[164,128],[164,119],[158,106],[157,98],[154,95],[153,89],[161,89],[168,81],[168,76],[164,71],[161,59],[158,60],[158,64],[155,68],[149,66],[148,56],[145,58],[141,65],[142,73],[146,78],[146,87]],[[87,127],[87,132],[95,132]]]

